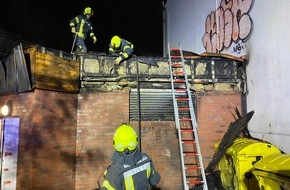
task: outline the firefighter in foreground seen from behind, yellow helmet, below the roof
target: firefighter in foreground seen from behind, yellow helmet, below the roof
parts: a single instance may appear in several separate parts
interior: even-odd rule
[[[113,163],[104,172],[102,190],[147,190],[156,188],[160,175],[152,159],[137,148],[138,137],[133,127],[119,126],[114,135]]]

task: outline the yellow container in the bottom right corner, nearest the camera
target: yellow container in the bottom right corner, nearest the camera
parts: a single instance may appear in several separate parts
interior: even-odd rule
[[[261,190],[290,189],[290,155],[272,154],[254,165]]]

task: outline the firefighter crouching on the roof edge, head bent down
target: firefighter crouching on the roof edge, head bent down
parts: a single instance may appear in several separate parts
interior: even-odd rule
[[[130,58],[134,52],[134,45],[119,36],[113,36],[109,44],[109,54],[118,54],[115,60],[116,64],[120,64],[125,59]]]

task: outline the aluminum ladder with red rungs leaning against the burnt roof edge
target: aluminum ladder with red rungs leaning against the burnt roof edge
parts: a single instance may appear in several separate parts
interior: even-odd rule
[[[168,44],[168,57],[183,187],[184,190],[189,190],[189,187],[202,185],[203,190],[208,190],[183,51],[179,46],[170,48]]]

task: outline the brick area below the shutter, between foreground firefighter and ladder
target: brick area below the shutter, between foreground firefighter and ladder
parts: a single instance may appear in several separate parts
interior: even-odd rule
[[[183,189],[175,123],[157,121],[141,124],[141,150],[151,156],[161,175],[158,187],[162,190]]]

